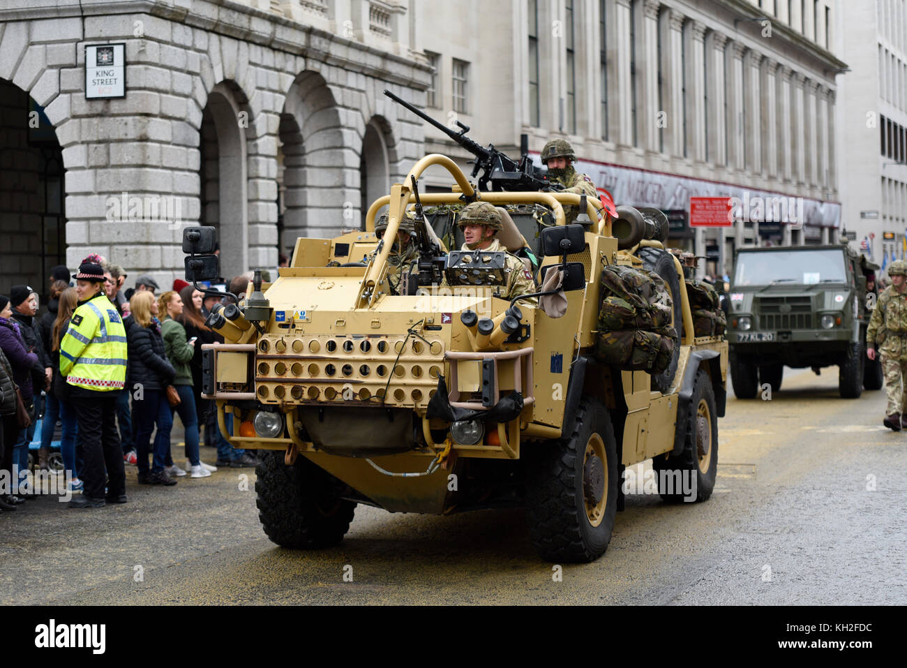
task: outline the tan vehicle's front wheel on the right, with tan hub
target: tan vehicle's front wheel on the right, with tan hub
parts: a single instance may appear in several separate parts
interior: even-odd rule
[[[571,436],[526,447],[526,515],[532,545],[552,562],[605,554],[618,504],[618,456],[608,408],[580,399]]]

